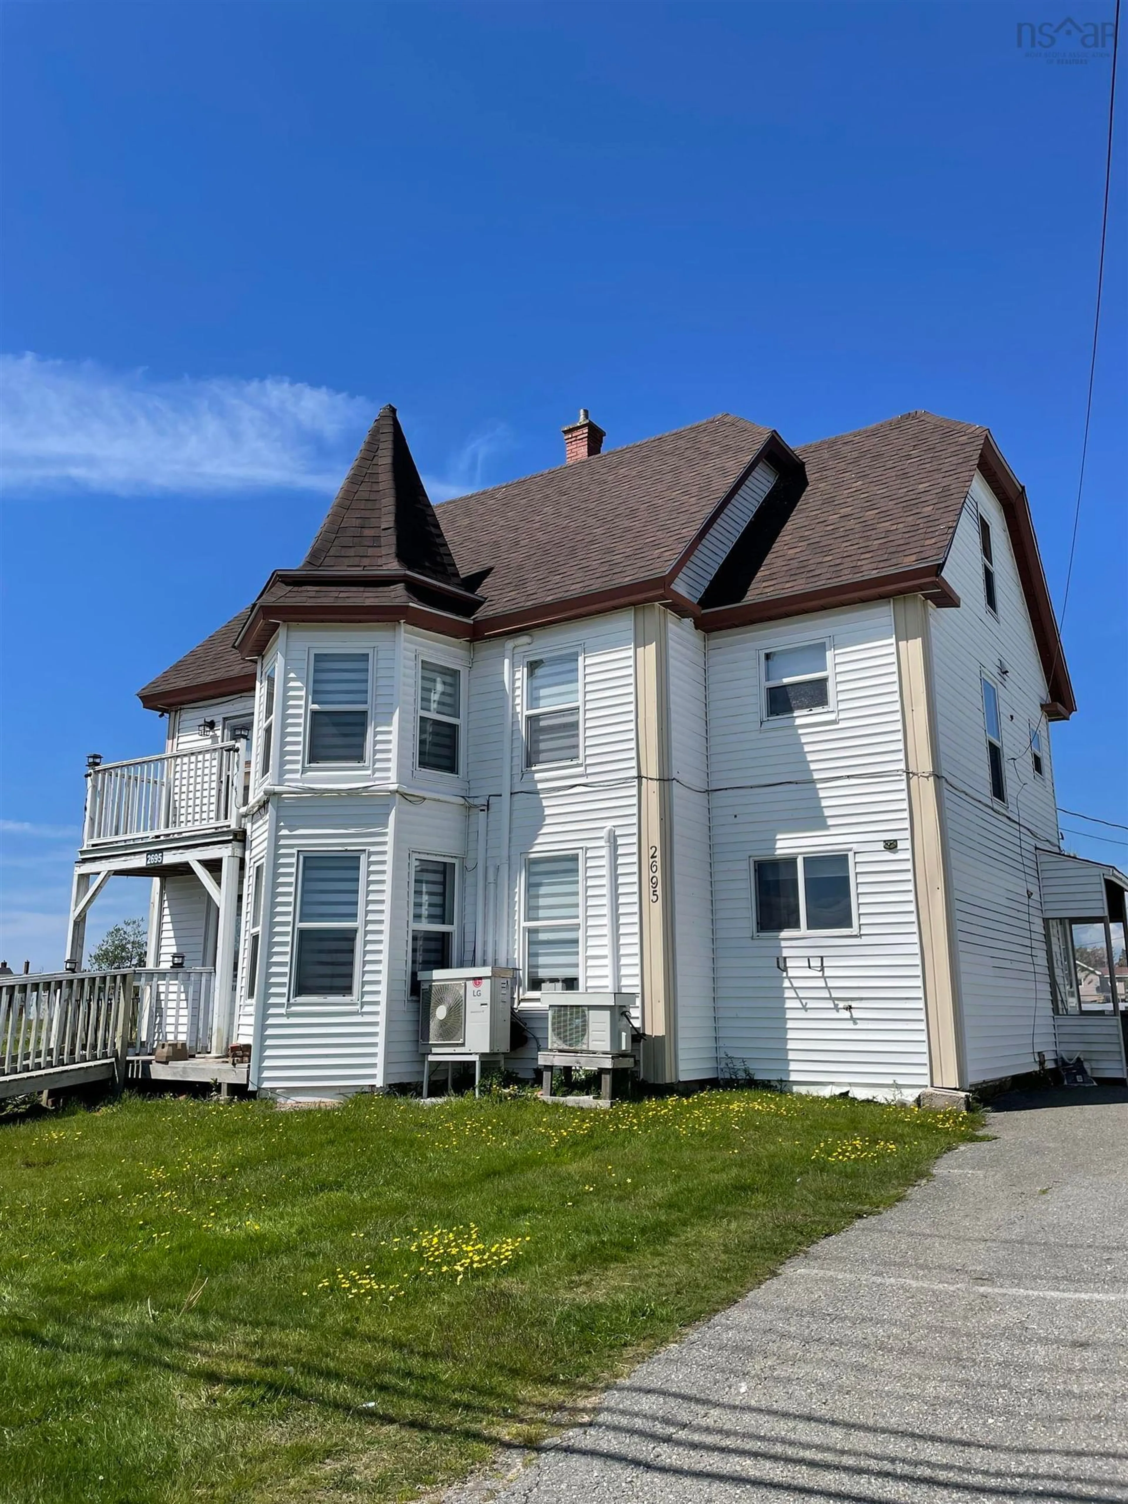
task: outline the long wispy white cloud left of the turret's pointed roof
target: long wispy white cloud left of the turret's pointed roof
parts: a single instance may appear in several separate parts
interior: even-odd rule
[[[0,355],[9,493],[332,492],[371,403],[283,378],[158,381],[93,361]]]

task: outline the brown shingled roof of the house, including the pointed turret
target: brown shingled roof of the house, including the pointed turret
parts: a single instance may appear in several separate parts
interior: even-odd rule
[[[699,605],[680,597],[674,578],[763,457],[778,481]],[[1068,714],[1026,493],[987,429],[929,412],[799,451],[720,414],[436,510],[396,409],[384,408],[302,567],[275,572],[251,608],[146,684],[141,701],[200,699],[194,675],[220,678],[220,666],[235,680],[241,663],[248,684],[247,657],[281,620],[406,618],[492,636],[641,600],[668,600],[704,630],[917,591],[958,605],[942,570],[976,469],[1006,511],[1051,713]]]

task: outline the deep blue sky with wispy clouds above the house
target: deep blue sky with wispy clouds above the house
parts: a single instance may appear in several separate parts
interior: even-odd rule
[[[1108,59],[1027,56],[1033,12],[9,0],[0,955],[57,964],[86,752],[159,747],[137,687],[301,561],[384,402],[436,501],[581,405],[985,423],[1060,603]],[[1053,749],[1128,823],[1120,182]]]

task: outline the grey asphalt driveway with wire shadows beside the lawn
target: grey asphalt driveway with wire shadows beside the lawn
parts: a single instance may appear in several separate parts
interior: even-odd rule
[[[1128,1093],[990,1131],[450,1498],[1128,1501]]]

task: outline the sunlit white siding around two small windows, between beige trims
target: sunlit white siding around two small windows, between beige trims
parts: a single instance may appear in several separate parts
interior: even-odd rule
[[[763,653],[817,638],[833,639],[836,716],[763,722]],[[710,636],[708,704],[720,1069],[811,1090],[919,1090],[928,1048],[890,605]],[[856,932],[754,932],[750,859],[841,853],[853,854]]]

